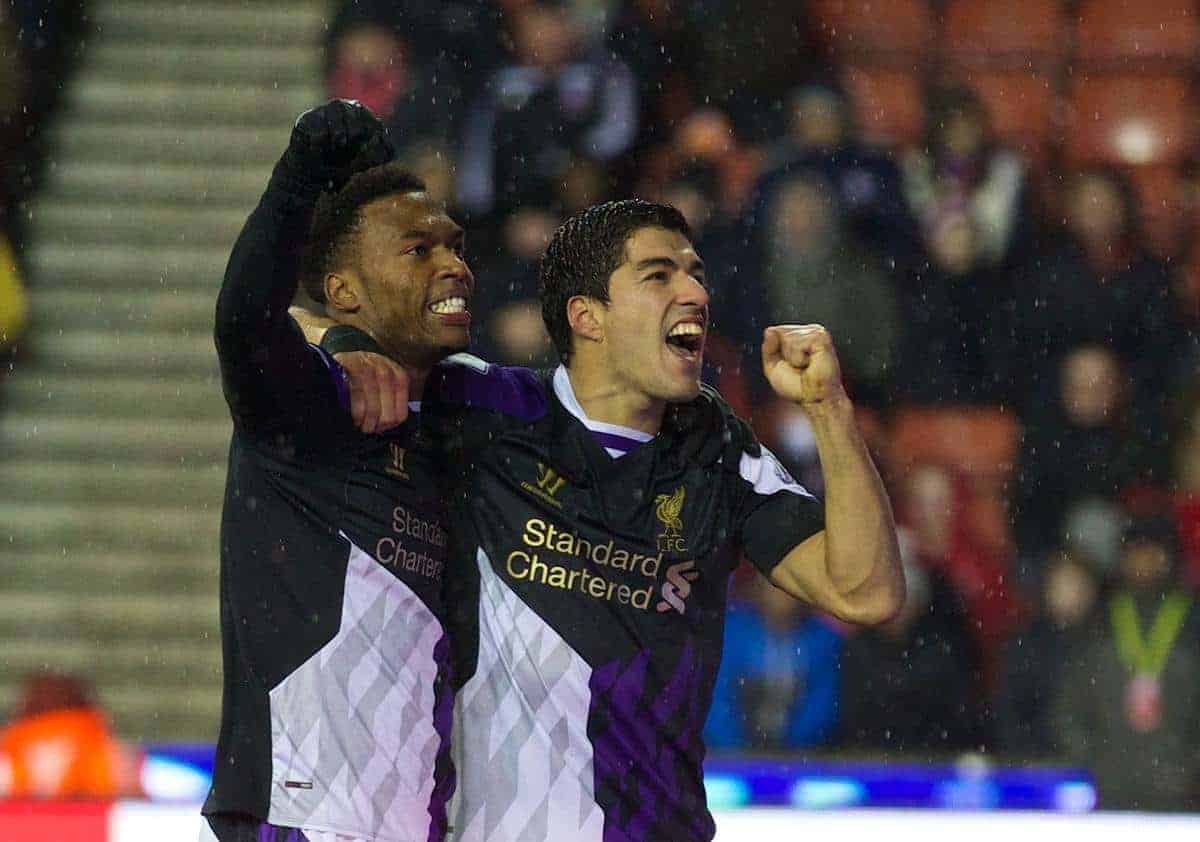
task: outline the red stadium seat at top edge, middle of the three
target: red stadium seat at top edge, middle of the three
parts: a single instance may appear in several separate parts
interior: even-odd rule
[[[1062,56],[1064,32],[1058,0],[950,0],[942,50],[960,66],[1031,67]]]

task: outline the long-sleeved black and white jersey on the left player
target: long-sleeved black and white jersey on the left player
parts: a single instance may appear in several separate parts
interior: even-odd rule
[[[234,420],[221,524],[224,693],[205,813],[372,842],[440,840],[454,786],[449,524],[413,417],[359,433],[287,315],[308,211],[268,193],[217,305]]]

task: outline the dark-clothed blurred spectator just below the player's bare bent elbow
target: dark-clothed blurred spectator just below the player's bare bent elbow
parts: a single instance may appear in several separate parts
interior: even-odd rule
[[[906,564],[905,578],[900,614],[846,642],[840,745],[884,756],[978,748],[978,670],[965,612],[936,570]]]

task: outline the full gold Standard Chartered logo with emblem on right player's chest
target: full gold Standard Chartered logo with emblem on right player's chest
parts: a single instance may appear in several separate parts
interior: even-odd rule
[[[662,553],[647,555],[617,546],[616,541],[588,541],[575,533],[554,527],[541,518],[526,521],[518,549],[505,559],[505,571],[514,579],[533,582],[547,588],[572,590],[595,600],[606,600],[649,611]],[[583,560],[584,566],[560,564],[562,557]],[[600,570],[595,570],[599,567]],[[640,577],[644,584],[617,582],[607,571],[620,571]],[[695,561],[673,564],[667,569],[666,582],[661,585],[658,612],[671,609],[683,614],[684,601],[691,593],[691,583],[700,577]]]

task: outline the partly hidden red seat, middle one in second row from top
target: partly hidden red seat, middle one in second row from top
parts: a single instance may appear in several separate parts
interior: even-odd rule
[[[968,71],[960,82],[973,88],[988,107],[1001,142],[1027,160],[1042,163],[1055,122],[1057,98],[1048,76],[1026,71]]]

